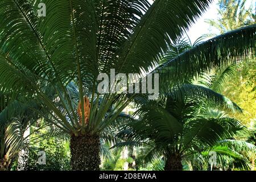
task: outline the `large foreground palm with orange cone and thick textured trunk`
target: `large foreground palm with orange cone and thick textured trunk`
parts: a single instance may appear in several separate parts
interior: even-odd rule
[[[132,100],[98,93],[98,75],[110,75],[111,68],[148,72],[212,1],[46,0],[46,17],[37,16],[39,2],[0,2],[1,90],[34,99],[43,107],[38,114],[71,135],[72,169],[98,170],[100,135]],[[155,72],[163,73],[161,83],[175,85],[254,53],[255,26],[250,26],[200,44]],[[70,82],[79,88],[79,100],[71,97]],[[55,90],[54,100],[45,86]]]

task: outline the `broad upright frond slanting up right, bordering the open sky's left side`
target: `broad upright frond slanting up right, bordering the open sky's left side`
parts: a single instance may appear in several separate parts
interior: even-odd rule
[[[123,44],[115,67],[122,73],[140,73],[154,67],[167,44],[179,39],[209,7],[211,0],[156,0],[141,18],[133,34]],[[176,17],[176,18],[174,18]]]

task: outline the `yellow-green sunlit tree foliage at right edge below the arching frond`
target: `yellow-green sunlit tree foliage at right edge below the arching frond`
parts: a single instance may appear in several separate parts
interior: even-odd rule
[[[255,130],[256,122],[256,61],[249,59],[246,63],[238,64],[235,68],[234,76],[227,79],[222,94],[232,99],[244,110],[241,114],[233,114],[233,117],[240,119],[240,121]]]

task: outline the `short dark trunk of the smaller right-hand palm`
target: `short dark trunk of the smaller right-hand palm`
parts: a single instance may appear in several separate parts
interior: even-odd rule
[[[179,155],[170,155],[167,158],[164,171],[182,171],[181,157]]]

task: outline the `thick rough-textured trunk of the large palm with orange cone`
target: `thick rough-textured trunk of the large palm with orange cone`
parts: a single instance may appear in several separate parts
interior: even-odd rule
[[[100,137],[71,137],[71,167],[74,171],[100,171]]]

